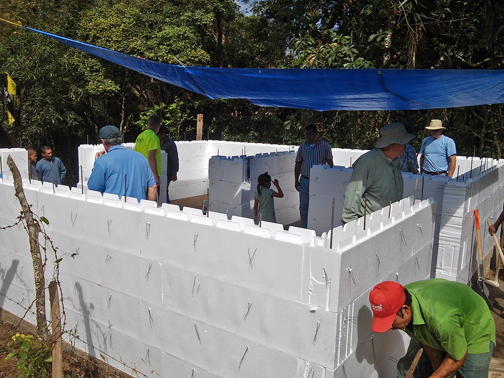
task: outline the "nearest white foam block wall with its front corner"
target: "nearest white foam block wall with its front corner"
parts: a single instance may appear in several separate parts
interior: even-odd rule
[[[182,376],[195,369],[202,376],[301,377],[311,368],[314,374],[339,371],[342,363],[347,364],[349,376],[360,376],[359,367],[349,359],[362,348],[367,351],[364,341],[370,330],[357,331],[356,342],[340,343],[344,329],[339,325],[345,323],[342,306],[362,302],[353,305],[359,317],[360,308],[367,305],[364,294],[379,280],[398,271],[406,282],[407,277],[416,278],[418,266],[428,272],[424,268],[432,242],[428,202],[411,207],[411,201],[402,201],[391,220],[388,213],[373,213],[372,229],[347,242],[351,230],[355,234],[361,227],[358,221],[350,222],[346,230],[340,227],[331,250],[326,236],[318,238],[310,230],[278,229],[273,235],[256,235],[247,233],[247,227],[255,230],[256,226],[246,219],[217,220],[236,225],[232,231],[232,227],[210,225],[214,224],[210,217],[209,225],[184,220],[187,213],[167,206],[124,203],[91,192],[72,198],[73,192],[65,195],[66,188],[60,194],[41,189],[31,185],[26,192],[36,199],[38,212],[49,219],[47,231],[60,253],[78,254],[75,259],[65,256],[60,265],[68,327],[77,325],[80,337],[76,345],[95,356],[105,351],[116,359],[107,356],[112,365],[125,369],[118,362],[125,361],[148,376],[167,372]],[[12,190],[0,184],[0,192],[7,196],[12,196]],[[14,220],[16,204],[6,201],[2,206],[9,215],[6,221]],[[405,244],[400,244],[401,227],[429,220],[423,236],[420,229],[410,232],[404,235]],[[268,226],[274,230],[274,224],[265,222]],[[0,239],[2,247],[6,239]],[[396,240],[397,248],[390,248],[391,240]],[[379,277],[373,279],[369,273],[375,272],[376,261],[360,257],[363,248],[373,248],[380,255],[383,271]],[[14,253],[0,250],[3,264],[14,262]],[[24,266],[29,254],[19,253]],[[16,274],[21,260],[11,269]],[[356,269],[358,290],[352,289],[347,300],[341,293],[348,286],[346,265],[350,264]],[[361,277],[359,265],[370,277]],[[6,295],[18,300],[24,295],[28,300],[33,284],[27,280],[28,291],[22,291],[16,274],[11,272],[14,283],[6,288]],[[17,314],[24,312],[16,306],[9,308]],[[292,329],[298,332],[293,334]],[[382,349],[383,356],[377,354],[374,367],[364,376],[391,365],[386,358],[391,348]]]

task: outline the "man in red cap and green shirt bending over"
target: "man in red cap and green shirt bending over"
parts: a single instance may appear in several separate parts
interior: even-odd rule
[[[495,322],[485,300],[469,286],[443,279],[412,282],[406,286],[382,282],[369,293],[373,311],[371,331],[403,330],[421,343],[434,373],[431,378],[488,376],[495,345]],[[414,343],[412,343],[414,344]],[[410,348],[411,349],[411,345]],[[409,361],[398,363],[404,377]]]

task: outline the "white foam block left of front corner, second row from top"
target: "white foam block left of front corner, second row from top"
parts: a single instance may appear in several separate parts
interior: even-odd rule
[[[310,311],[308,305],[297,301],[169,265],[163,265],[163,287],[164,308],[267,347],[306,356],[315,363],[333,363],[334,346],[327,346],[336,337],[335,313]],[[285,317],[290,321],[283,322]],[[264,319],[270,322],[264,323]],[[292,333],[292,329],[297,332]],[[318,343],[313,344],[316,333]]]

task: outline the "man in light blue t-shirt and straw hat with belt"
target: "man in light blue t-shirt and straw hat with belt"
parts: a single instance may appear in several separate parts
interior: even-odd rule
[[[420,172],[430,175],[448,174],[453,177],[457,165],[457,149],[452,138],[443,135],[443,122],[432,119],[425,129],[430,137],[422,142],[420,149]]]

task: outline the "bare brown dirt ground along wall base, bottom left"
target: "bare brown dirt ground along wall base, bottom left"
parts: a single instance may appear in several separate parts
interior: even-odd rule
[[[9,343],[16,333],[34,335],[35,328],[31,324],[21,322],[8,311],[1,311],[0,320],[0,378],[11,378],[23,376],[17,367],[17,357],[5,361],[5,357],[10,352]],[[14,325],[13,325],[14,324]],[[63,352],[63,375],[67,378],[130,378],[125,374],[103,361],[86,355],[84,352],[67,345]]]

